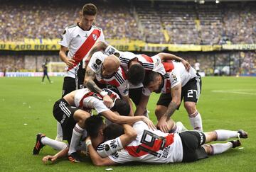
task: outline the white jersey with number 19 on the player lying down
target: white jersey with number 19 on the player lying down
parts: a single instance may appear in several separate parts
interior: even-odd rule
[[[129,161],[140,161],[151,164],[181,162],[183,147],[178,134],[169,134],[160,130],[151,130],[142,121],[133,125],[137,137],[124,149],[108,156],[112,161],[124,164]]]

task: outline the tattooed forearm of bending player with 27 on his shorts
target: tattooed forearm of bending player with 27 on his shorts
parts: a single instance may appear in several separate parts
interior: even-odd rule
[[[178,108],[178,105],[181,104],[181,84],[174,86],[171,88],[171,103],[169,103],[166,113],[164,113],[164,117],[168,120],[171,115],[174,114],[175,110]]]

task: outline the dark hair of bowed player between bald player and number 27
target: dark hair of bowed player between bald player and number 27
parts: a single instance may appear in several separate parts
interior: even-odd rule
[[[128,81],[134,86],[142,83],[145,77],[145,69],[142,64],[132,64],[127,73]]]

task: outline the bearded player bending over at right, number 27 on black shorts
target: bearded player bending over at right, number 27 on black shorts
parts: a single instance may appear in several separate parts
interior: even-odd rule
[[[190,67],[187,71],[181,62],[164,62],[158,70],[148,72],[143,84],[151,92],[161,93],[155,113],[157,126],[162,132],[170,132],[167,123],[171,122],[170,117],[179,108],[182,99],[193,129],[203,131],[201,114],[196,109],[202,82],[195,69]],[[148,99],[149,96],[142,100],[140,108],[146,107]]]

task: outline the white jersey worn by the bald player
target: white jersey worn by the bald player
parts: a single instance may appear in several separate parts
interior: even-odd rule
[[[90,69],[95,72],[97,81],[102,84],[110,84],[112,86],[116,86],[122,96],[128,96],[129,82],[122,67],[119,67],[118,71],[115,72],[114,75],[109,79],[102,78],[102,63],[104,62],[106,57],[107,55],[105,55],[103,52],[95,52],[90,59],[88,67],[90,67]]]

